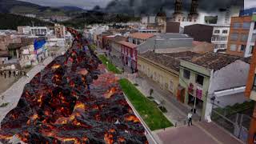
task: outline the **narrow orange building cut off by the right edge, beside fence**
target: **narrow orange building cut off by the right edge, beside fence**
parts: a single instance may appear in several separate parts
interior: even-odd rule
[[[254,46],[255,48],[255,46]],[[256,101],[256,50],[250,61],[250,71],[246,83],[246,98]],[[254,113],[250,122],[250,129],[248,134],[248,143],[254,144],[256,136],[256,105],[254,105]]]

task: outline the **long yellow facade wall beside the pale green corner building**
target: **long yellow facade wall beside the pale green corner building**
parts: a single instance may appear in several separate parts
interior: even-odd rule
[[[178,72],[140,57],[138,57],[138,70],[157,82],[163,90],[168,90],[174,95],[177,93]]]

